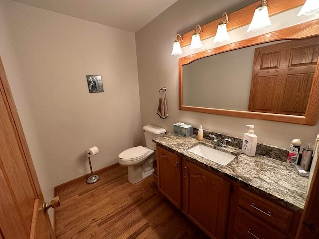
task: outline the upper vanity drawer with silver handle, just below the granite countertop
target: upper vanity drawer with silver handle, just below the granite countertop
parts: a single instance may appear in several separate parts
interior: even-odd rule
[[[238,205],[280,231],[289,231],[293,212],[243,188],[239,189]]]

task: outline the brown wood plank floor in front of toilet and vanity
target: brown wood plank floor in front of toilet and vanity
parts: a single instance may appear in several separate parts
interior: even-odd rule
[[[56,190],[57,239],[208,239],[158,190],[153,177],[130,184],[127,167],[116,166]]]

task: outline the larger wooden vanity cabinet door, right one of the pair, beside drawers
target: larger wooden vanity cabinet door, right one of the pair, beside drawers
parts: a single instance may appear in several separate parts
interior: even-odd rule
[[[225,238],[230,182],[183,159],[183,212],[208,236]]]

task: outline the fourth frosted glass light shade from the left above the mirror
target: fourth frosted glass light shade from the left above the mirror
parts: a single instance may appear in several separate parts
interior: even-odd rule
[[[248,27],[247,32],[259,31],[260,29],[271,26],[271,22],[268,15],[267,0],[261,0],[261,3],[257,6],[253,19]]]

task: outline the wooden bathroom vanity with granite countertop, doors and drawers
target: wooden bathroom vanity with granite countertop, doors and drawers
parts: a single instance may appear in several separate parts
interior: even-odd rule
[[[306,200],[307,178],[283,160],[278,148],[248,157],[241,149],[169,133],[157,144],[158,188],[208,236],[217,239],[294,238]],[[236,155],[226,166],[188,151],[202,143]],[[276,151],[277,150],[277,151]],[[280,151],[280,149],[279,149]],[[285,153],[285,152],[283,152]]]

